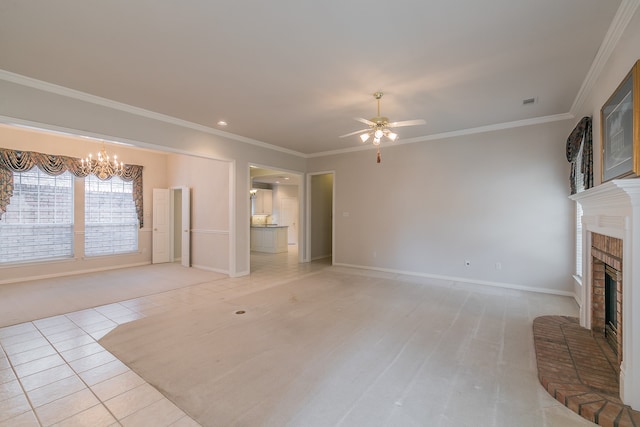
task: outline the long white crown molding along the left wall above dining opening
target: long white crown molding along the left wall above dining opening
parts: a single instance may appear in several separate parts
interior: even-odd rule
[[[306,157],[304,153],[299,151],[290,150],[288,148],[279,147],[256,139],[247,138],[244,136],[236,135],[230,132],[221,131],[208,126],[193,123],[187,120],[178,119],[176,117],[168,116],[166,114],[156,113],[155,111],[145,110],[144,108],[134,107],[132,105],[124,104],[121,102],[113,101],[111,99],[102,98],[100,96],[91,95],[85,92],[80,92],[75,89],[69,89],[64,86],[59,86],[53,83],[48,83],[42,80],[33,79],[31,77],[15,74],[10,71],[0,69],[0,80],[5,80],[11,83],[27,86],[33,89],[42,90],[44,92],[53,93],[67,98],[77,99],[79,101],[87,102],[90,104],[100,105],[102,107],[111,108],[114,110],[122,111],[125,113],[133,114],[147,119],[158,120],[160,122],[172,124],[175,126],[192,129],[198,132],[208,133],[210,135],[216,135],[223,138],[231,139],[234,141],[244,142],[245,144],[251,144],[270,150],[280,151],[282,153],[291,154],[298,157]]]

